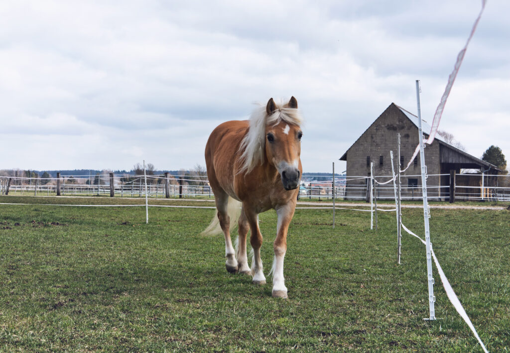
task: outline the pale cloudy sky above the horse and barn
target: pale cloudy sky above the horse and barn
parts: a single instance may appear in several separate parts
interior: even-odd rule
[[[120,5],[119,5],[120,4]],[[429,123],[481,8],[458,1],[2,1],[0,169],[205,165],[211,131],[297,98],[304,172],[393,102]],[[440,130],[510,159],[510,2],[488,0]]]

